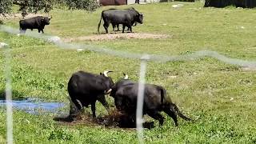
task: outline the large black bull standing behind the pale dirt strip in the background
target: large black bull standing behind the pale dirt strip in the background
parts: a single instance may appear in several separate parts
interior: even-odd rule
[[[110,10],[103,10],[102,17],[98,22],[98,33],[99,27],[101,26],[102,19],[104,21],[104,28],[106,30],[106,34],[108,33],[108,27],[110,23],[114,26],[118,26],[118,24],[122,24],[122,33],[124,33],[125,27],[127,26],[130,32],[132,32],[131,26],[134,23],[138,22],[142,24],[143,21],[143,14],[139,13],[134,8],[124,9],[124,10],[117,10],[117,9],[110,9]]]

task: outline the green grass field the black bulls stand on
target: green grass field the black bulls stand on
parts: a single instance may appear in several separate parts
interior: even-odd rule
[[[134,5],[145,14],[144,23],[134,27],[134,33],[167,34],[162,39],[114,39],[78,41],[133,53],[181,55],[198,50],[214,50],[230,58],[256,59],[255,9],[203,8],[200,2]],[[93,13],[82,10],[50,11],[53,15],[45,33],[61,38],[94,35],[102,10]],[[18,18],[6,21],[18,29]],[[243,27],[242,27],[243,26]],[[109,29],[112,31],[112,28]],[[30,31],[30,30],[28,30]],[[37,30],[35,30],[37,31]],[[100,29],[105,32],[103,26]],[[138,80],[139,60],[120,58],[91,51],[65,50],[50,42],[16,34],[0,32],[0,42],[10,44],[14,98],[34,97],[46,101],[68,102],[66,86],[77,70],[99,73],[114,70],[110,76],[117,81],[125,72]],[[4,53],[0,50],[0,63]],[[0,88],[5,81],[3,65]],[[176,77],[171,77],[176,76]],[[146,82],[166,87],[172,100],[195,122],[179,118],[175,127],[164,114],[164,126],[145,130],[146,143],[256,143],[256,74],[215,58],[193,61],[149,62]],[[108,102],[113,99],[106,96]],[[64,110],[68,111],[68,107]],[[96,114],[106,114],[97,104]],[[63,111],[64,111],[63,110]],[[88,110],[90,112],[90,108]],[[137,143],[136,130],[91,125],[61,125],[54,122],[55,114],[33,115],[14,110],[15,143]],[[150,119],[153,120],[153,119]],[[0,143],[6,142],[6,109],[0,109]]]

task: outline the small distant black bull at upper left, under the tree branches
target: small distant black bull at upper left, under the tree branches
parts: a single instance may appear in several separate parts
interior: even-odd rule
[[[52,17],[51,17],[52,18]],[[38,33],[40,33],[40,31],[43,32],[43,29],[45,28],[46,25],[50,24],[50,19],[48,17],[42,17],[42,16],[37,16],[34,18],[28,18],[28,19],[23,19],[19,21],[19,29],[20,29],[20,33],[22,32],[26,32],[26,29],[38,29]]]

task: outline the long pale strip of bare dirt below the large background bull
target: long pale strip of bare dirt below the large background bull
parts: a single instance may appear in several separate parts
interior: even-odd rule
[[[117,33],[117,34],[95,34],[90,36],[82,36],[76,38],[62,38],[64,42],[74,41],[102,41],[102,40],[114,40],[114,39],[162,39],[169,38],[170,35],[166,34],[149,34],[149,33]]]

